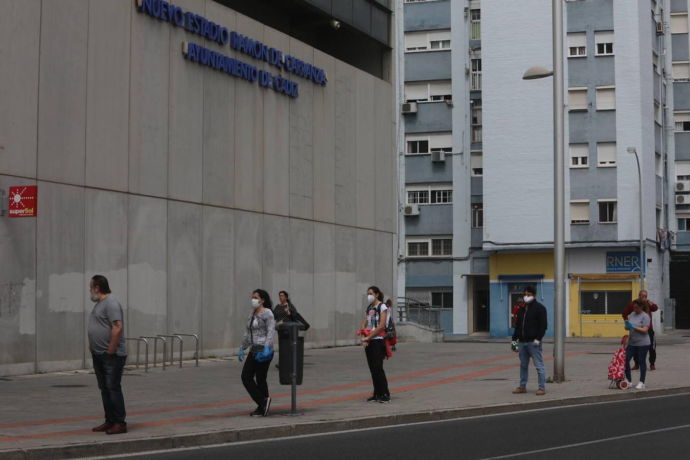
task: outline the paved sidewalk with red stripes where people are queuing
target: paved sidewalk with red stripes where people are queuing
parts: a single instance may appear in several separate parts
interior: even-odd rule
[[[535,396],[531,366],[527,394],[513,394],[517,354],[502,343],[400,343],[384,363],[389,404],[366,403],[371,377],[361,346],[306,350],[304,384],[297,389],[299,416],[290,417],[290,386],[268,373],[270,417],[255,409],[237,358],[206,359],[195,368],[128,370],[123,389],[127,434],[91,432],[103,421],[95,375],[57,372],[0,379],[0,459],[97,457],[273,439],[368,428],[393,423],[471,417],[533,408],[690,392],[690,337],[667,334],[658,347],[658,370],[647,372],[647,390],[609,390],[607,367],[618,344],[567,343],[566,383],[548,384]],[[553,345],[544,345],[546,375],[553,374]],[[637,383],[639,372],[633,372]]]

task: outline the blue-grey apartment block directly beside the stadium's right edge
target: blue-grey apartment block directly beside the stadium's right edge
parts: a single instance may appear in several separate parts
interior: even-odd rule
[[[441,308],[446,333],[488,332],[482,5],[405,1],[402,31],[398,292]]]

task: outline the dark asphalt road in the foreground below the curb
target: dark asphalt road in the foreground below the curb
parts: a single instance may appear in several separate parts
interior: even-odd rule
[[[689,413],[680,395],[118,458],[688,459]]]

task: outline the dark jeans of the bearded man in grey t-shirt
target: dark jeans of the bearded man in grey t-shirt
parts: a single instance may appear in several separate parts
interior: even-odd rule
[[[101,390],[106,422],[127,425],[125,422],[125,399],[122,395],[122,372],[127,362],[126,356],[117,354],[91,354],[93,370],[96,372],[98,388]]]

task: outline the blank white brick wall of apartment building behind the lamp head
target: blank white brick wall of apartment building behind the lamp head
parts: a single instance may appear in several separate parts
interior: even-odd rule
[[[553,241],[553,81],[522,80],[552,67],[550,24],[550,2],[482,3],[484,249]]]

